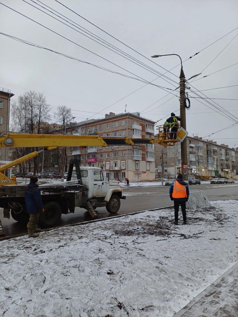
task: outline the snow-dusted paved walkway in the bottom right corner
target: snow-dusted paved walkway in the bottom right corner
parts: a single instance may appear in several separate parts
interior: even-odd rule
[[[174,317],[238,317],[238,262]]]

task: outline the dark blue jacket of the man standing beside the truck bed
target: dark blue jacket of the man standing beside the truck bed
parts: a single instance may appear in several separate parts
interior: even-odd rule
[[[41,191],[39,186],[34,183],[28,184],[28,190],[25,191],[26,210],[29,214],[36,214],[44,208],[41,199]]]

